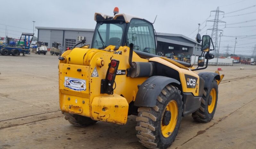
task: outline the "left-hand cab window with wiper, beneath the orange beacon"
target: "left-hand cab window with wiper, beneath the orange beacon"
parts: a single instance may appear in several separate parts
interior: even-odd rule
[[[120,46],[122,41],[125,23],[97,23],[92,48],[104,49],[109,45]]]

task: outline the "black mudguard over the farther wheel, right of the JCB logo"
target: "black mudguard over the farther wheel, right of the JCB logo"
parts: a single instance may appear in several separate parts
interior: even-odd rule
[[[204,88],[210,88],[213,79],[220,80],[220,75],[213,72],[201,72],[198,74],[204,80]]]

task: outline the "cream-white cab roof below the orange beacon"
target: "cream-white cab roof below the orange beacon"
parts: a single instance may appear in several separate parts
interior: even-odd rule
[[[125,20],[125,23],[129,23],[132,18],[137,18],[137,19],[142,19],[142,20],[145,20],[141,17],[137,17],[137,16],[133,16],[133,15],[130,15],[130,14],[126,14],[126,13],[117,13],[115,14],[114,16],[109,16],[109,15],[106,15],[106,14],[103,14],[103,13],[98,13],[96,12],[94,14],[94,20],[97,21],[97,15],[101,16],[102,18],[104,18],[105,20],[108,20],[109,18],[113,18],[112,20],[116,20],[117,18],[119,17],[123,17],[124,20]]]

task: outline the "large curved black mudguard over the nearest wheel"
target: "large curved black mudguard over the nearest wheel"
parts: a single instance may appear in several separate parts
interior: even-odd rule
[[[148,78],[139,87],[134,101],[134,106],[156,106],[157,97],[161,90],[163,90],[164,87],[170,83],[176,83],[178,85],[180,84],[179,81],[165,76],[152,76]]]

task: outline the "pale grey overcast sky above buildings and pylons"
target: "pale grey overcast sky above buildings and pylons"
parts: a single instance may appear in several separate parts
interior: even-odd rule
[[[198,23],[203,23],[210,16],[210,11],[216,10],[219,6],[219,9],[225,13],[232,12],[226,14],[224,18],[223,15],[219,17],[227,24],[253,20],[226,27],[254,27],[224,28],[225,26],[221,26],[223,23],[219,23],[219,28],[224,28],[224,35],[256,35],[256,13],[254,13],[256,12],[256,6],[248,8],[253,5],[256,5],[255,0],[5,0],[1,2],[0,9],[0,36],[5,36],[5,25],[8,25],[7,30],[10,37],[20,37],[21,32],[33,32],[33,20],[36,21],[35,26],[41,27],[94,29],[96,24],[94,13],[101,12],[113,15],[115,6],[119,7],[120,13],[136,15],[151,22],[158,15],[154,24],[157,32],[183,34],[192,39],[197,34]],[[237,11],[243,8],[246,9]],[[245,13],[250,14],[241,15]],[[212,12],[208,20],[214,19],[214,16],[215,13]],[[213,25],[213,22],[207,22],[207,26],[203,23],[200,27],[202,28],[201,35],[205,35],[206,29],[210,28],[211,25]],[[37,36],[37,30],[35,33]],[[208,30],[207,34],[211,35],[211,31]],[[224,52],[227,44],[230,46],[229,53],[233,53],[235,37],[222,36],[220,52]],[[255,44],[256,36],[237,37],[235,53],[250,54]]]

